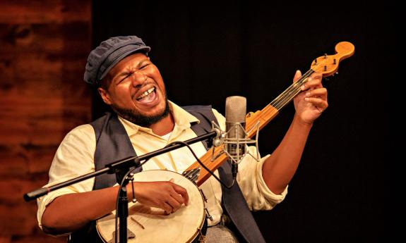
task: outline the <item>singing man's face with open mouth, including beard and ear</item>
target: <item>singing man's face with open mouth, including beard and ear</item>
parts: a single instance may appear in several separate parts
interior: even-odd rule
[[[107,90],[98,90],[103,101],[123,118],[148,127],[167,116],[162,76],[145,54],[127,56],[109,71],[107,78],[111,80]]]

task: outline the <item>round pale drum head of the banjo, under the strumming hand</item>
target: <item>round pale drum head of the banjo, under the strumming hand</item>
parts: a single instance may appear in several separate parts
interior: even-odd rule
[[[134,181],[143,182],[171,179],[187,190],[189,205],[168,215],[163,209],[144,206],[138,201],[129,202],[127,242],[193,242],[201,235],[205,221],[203,195],[189,177],[169,170],[145,170],[133,175]],[[114,211],[96,221],[97,232],[105,242],[114,242],[115,220]]]

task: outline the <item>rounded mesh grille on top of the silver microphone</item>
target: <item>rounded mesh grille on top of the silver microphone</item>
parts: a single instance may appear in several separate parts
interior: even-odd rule
[[[229,123],[245,123],[246,98],[229,96],[225,100],[225,120]]]

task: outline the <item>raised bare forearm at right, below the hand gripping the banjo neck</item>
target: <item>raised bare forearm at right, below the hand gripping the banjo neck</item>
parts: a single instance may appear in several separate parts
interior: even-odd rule
[[[294,117],[285,137],[263,164],[263,180],[275,194],[283,192],[299,166],[311,124]]]

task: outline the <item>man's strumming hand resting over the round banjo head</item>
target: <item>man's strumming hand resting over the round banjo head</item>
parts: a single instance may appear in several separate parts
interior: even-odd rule
[[[189,195],[186,189],[175,184],[173,180],[133,183],[134,194],[138,202],[145,206],[161,208],[167,214],[174,213],[182,204],[187,206],[189,203]],[[128,195],[129,198],[132,197],[131,192]]]

